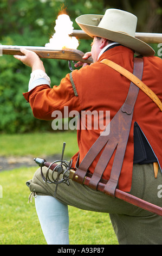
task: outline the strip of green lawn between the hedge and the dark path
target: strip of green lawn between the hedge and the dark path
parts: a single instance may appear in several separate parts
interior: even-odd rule
[[[48,156],[61,154],[66,142],[65,155],[78,151],[75,132],[27,133],[0,135],[0,156]]]

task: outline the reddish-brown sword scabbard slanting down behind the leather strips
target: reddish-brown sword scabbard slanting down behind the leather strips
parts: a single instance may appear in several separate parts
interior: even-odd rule
[[[85,181],[84,181],[84,185],[88,186],[89,181],[90,181],[90,177],[86,176]],[[103,192],[105,186],[106,186],[106,184],[104,184],[102,182],[99,182],[97,190]],[[162,216],[162,208],[161,207],[159,207],[157,205],[154,205],[154,204],[151,204],[149,202],[146,202],[145,200],[142,200],[138,197],[132,196],[131,194],[126,193],[124,191],[118,190],[118,188],[116,188],[116,190],[115,190],[115,198],[119,198],[121,200],[124,200],[127,203],[138,206],[138,207],[140,207],[140,208],[142,208],[146,211],[150,211],[153,214],[157,214],[157,215]]]

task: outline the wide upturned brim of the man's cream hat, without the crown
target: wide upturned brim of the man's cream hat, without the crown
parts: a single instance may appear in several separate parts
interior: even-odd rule
[[[99,36],[101,38],[106,38],[114,42],[119,42],[119,44],[131,48],[135,51],[135,53],[142,56],[154,55],[155,52],[153,48],[150,45],[146,44],[144,41],[141,41],[138,38],[122,32],[111,31],[105,28],[98,27],[102,17],[103,15],[81,15],[80,17],[76,18],[76,23],[87,35],[92,38],[94,38],[94,36]]]

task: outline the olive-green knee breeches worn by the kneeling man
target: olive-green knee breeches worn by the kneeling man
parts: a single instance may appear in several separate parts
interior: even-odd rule
[[[43,173],[46,175],[46,168]],[[162,217],[126,203],[121,199],[107,196],[69,180],[70,185],[59,184],[56,198],[62,203],[83,210],[107,212],[120,245],[161,245]],[[40,169],[27,182],[31,192],[54,196],[55,184],[43,181]],[[131,194],[162,207],[162,174],[159,169],[154,178],[153,164],[134,164]],[[102,227],[101,227],[102,228]]]

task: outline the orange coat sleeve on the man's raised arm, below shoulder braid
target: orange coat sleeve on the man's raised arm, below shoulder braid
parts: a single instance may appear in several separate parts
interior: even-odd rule
[[[59,86],[50,88],[48,84],[40,84],[27,93],[23,93],[30,103],[34,117],[43,120],[52,120],[54,111],[61,111],[62,117],[68,117],[70,111],[80,112],[79,95],[74,92],[72,76],[66,75]],[[66,111],[64,111],[66,107]]]

